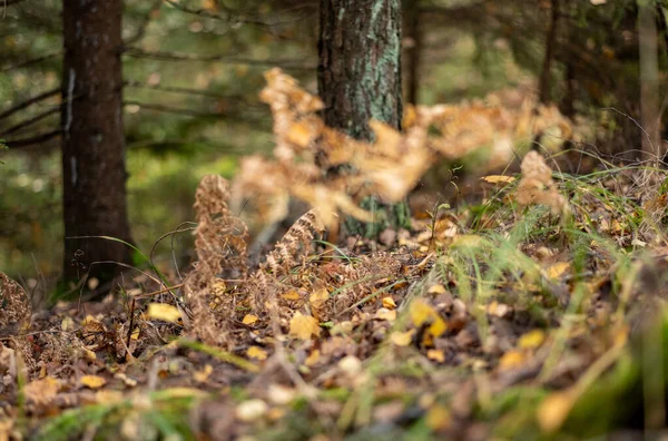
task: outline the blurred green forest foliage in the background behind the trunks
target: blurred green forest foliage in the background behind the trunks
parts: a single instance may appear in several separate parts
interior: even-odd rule
[[[504,88],[534,89],[550,4],[412,2],[410,7],[420,8],[423,35],[420,102],[459,101]],[[599,154],[635,148],[639,131],[630,117],[639,111],[636,1],[559,4],[550,96],[562,110],[572,108],[596,122]],[[24,0],[0,8],[0,137],[12,141],[58,128],[58,111],[17,128],[59,106],[58,94],[7,117],[1,114],[60,87],[61,4]],[[230,175],[239,155],[272,148],[269,111],[257,98],[262,72],[279,66],[315,91],[317,23],[315,0],[125,2],[129,209],[134,237],[143,249],[191,219],[191,195],[203,173]],[[660,17],[662,38],[665,23]],[[411,38],[405,36],[406,46]],[[661,80],[667,85],[666,45],[661,48]],[[10,275],[58,275],[58,148],[52,138],[3,155],[0,268]]]

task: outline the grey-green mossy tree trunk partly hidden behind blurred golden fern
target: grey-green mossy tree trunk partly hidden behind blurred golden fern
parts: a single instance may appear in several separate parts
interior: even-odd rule
[[[321,0],[320,18],[317,79],[325,122],[363,140],[373,138],[370,119],[400,129],[401,0]],[[363,206],[377,222],[347,222],[348,233],[375,236],[409,220],[406,204],[370,198]]]

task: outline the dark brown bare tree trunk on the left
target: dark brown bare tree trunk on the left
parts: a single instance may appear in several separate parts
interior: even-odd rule
[[[62,205],[65,281],[108,281],[131,261],[126,208],[121,72],[122,0],[63,0]]]

